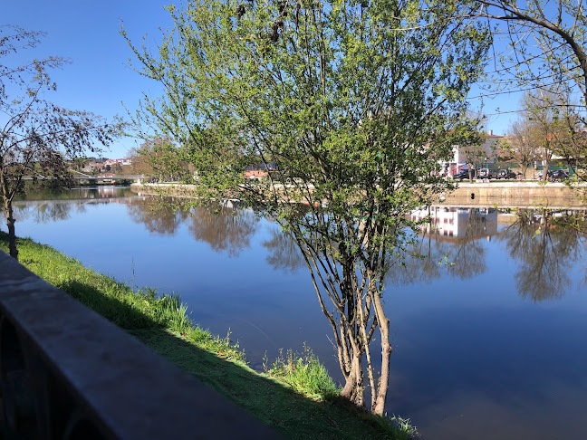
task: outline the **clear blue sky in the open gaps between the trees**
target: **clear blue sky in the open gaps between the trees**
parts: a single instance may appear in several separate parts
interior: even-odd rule
[[[133,42],[147,42],[153,47],[160,40],[159,27],[170,26],[168,12],[163,9],[165,0],[101,0],[94,2],[74,0],[12,0],[2,5],[0,24],[18,24],[27,30],[46,32],[43,43],[33,51],[25,51],[27,58],[60,55],[72,63],[61,71],[53,71],[58,91],[51,99],[63,107],[88,110],[111,118],[119,114],[126,117],[126,106],[134,110],[143,91],[156,91],[156,84],[130,70],[129,47],[120,36],[120,24]],[[155,89],[153,89],[155,88]],[[478,94],[474,92],[473,94]],[[500,95],[496,100],[485,100],[484,112],[515,110],[520,96]],[[478,100],[473,100],[477,103]],[[509,121],[515,115],[490,117],[486,129],[494,134],[505,134]],[[108,158],[123,158],[137,145],[136,139],[115,141]]]

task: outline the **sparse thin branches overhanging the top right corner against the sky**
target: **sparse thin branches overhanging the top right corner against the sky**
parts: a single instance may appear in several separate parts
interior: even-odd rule
[[[497,92],[511,91],[512,84],[534,90],[533,111],[543,117],[550,113],[556,122],[548,148],[562,150],[576,165],[587,165],[587,16],[582,0],[477,4],[483,7],[476,15],[499,20],[504,27],[496,32],[510,41],[508,53],[496,58]]]

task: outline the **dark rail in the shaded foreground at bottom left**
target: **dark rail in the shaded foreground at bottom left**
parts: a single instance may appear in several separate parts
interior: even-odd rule
[[[277,438],[0,251],[0,438]]]

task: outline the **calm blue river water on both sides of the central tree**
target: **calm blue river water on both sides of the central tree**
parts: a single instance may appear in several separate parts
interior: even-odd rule
[[[136,286],[177,292],[238,340],[251,367],[306,342],[341,379],[331,328],[295,246],[271,221],[160,207],[129,188],[34,193],[16,234]],[[388,412],[428,439],[582,439],[587,408],[583,213],[435,207],[425,260],[393,269]],[[3,230],[5,226],[3,225]],[[375,342],[377,343],[377,342]]]

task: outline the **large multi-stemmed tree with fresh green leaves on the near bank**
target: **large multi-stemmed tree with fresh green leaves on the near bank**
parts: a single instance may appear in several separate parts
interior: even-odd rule
[[[384,275],[412,238],[407,214],[450,186],[438,164],[491,43],[458,19],[461,5],[188,1],[168,8],[175,27],[158,53],[129,42],[165,91],[136,120],[186,148],[199,200],[238,198],[294,238],[332,325],[342,397],[365,405],[366,371],[376,414],[392,349]],[[266,179],[245,180],[270,163]]]

